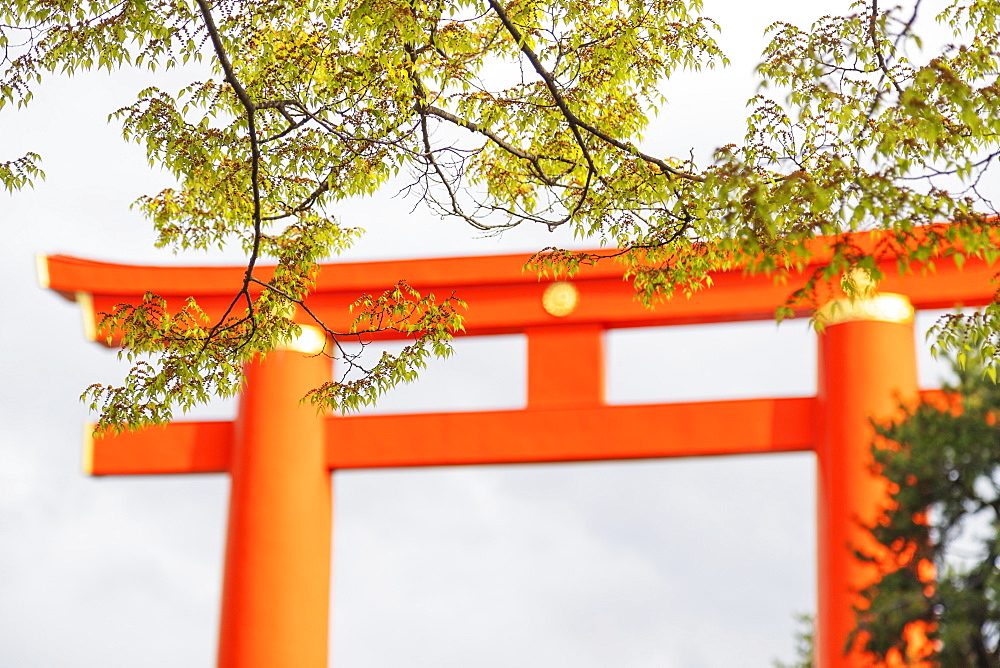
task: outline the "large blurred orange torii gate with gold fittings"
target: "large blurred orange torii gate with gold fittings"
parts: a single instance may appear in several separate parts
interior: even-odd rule
[[[857,241],[873,248],[877,238]],[[250,365],[235,422],[174,422],[86,444],[93,475],[230,475],[218,665],[327,665],[330,471],[791,451],[817,456],[818,665],[871,665],[858,652],[843,654],[856,591],[875,572],[853,558],[850,546],[870,545],[858,520],[870,523],[886,500],[884,481],[867,467],[868,420],[892,416],[899,400],[917,396],[913,309],[986,303],[995,269],[970,259],[962,270],[948,261],[929,276],[900,276],[894,258],[884,257],[884,292],[842,300],[828,313],[815,396],[609,406],[604,330],[770,319],[790,288],[765,276],[720,272],[711,289],[651,311],[610,263],[584,268],[572,282],[552,282],[522,272],[526,260],[331,264],[309,298],[315,313],[345,330],[347,306],[359,294],[400,278],[422,292],[457,290],[469,305],[467,335],[526,335],[522,410],[317,415],[299,399],[329,379],[331,365],[303,341]],[[42,284],[80,304],[95,340],[100,312],[147,290],[173,305],[195,296],[210,315],[221,313],[243,271],[39,260]]]

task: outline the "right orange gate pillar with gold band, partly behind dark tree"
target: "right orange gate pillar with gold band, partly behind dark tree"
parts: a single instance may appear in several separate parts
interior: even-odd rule
[[[868,550],[870,525],[888,502],[887,484],[869,469],[874,432],[870,418],[898,415],[899,402],[917,397],[913,308],[901,295],[838,300],[819,314],[817,435],[818,610],[816,659],[820,668],[874,665],[852,651],[857,592],[877,578],[852,548]]]

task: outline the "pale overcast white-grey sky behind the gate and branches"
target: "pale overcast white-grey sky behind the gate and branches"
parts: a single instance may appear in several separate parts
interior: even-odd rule
[[[685,75],[650,137],[707,155],[742,136],[761,33],[833,3],[719,1],[734,64]],[[134,73],[53,79],[0,113],[0,160],[44,156],[48,179],[0,194],[0,665],[210,666],[224,476],[80,473],[92,382],[120,377],[84,340],[79,310],[40,289],[35,254],[128,263],[152,248],[129,204],[166,183],[108,125]],[[391,193],[344,207],[369,234],[344,261],[531,251],[568,244],[514,230],[477,238]],[[929,318],[920,320],[926,326]],[[524,340],[466,340],[383,411],[523,405]],[[612,403],[815,393],[805,323],[631,330],[608,338]],[[926,361],[926,356],[924,357]],[[939,372],[921,367],[922,382]],[[485,383],[484,378],[493,379]],[[232,417],[216,405],[196,417]],[[738,429],[739,425],[733,425]],[[811,455],[443,468],[335,476],[332,659],[338,668],[769,666],[793,656],[793,615],[815,605]]]

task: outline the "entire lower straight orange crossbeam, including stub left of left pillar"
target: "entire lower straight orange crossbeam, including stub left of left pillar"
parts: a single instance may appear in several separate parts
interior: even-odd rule
[[[922,395],[941,396],[936,390]],[[807,451],[814,447],[815,403],[814,397],[796,397],[327,418],[327,465],[337,470]],[[88,437],[85,468],[92,475],[225,473],[233,437],[232,422],[173,422]]]

